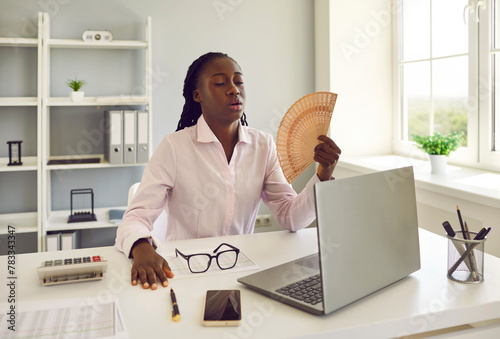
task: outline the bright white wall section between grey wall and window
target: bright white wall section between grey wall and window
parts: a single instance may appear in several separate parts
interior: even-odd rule
[[[316,6],[316,88],[338,94],[331,137],[344,155],[392,153],[391,1]]]

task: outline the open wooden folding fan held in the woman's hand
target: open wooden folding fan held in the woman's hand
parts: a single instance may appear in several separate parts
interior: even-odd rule
[[[314,162],[314,147],[326,135],[337,94],[315,92],[297,100],[278,129],[277,151],[286,180],[291,183]]]

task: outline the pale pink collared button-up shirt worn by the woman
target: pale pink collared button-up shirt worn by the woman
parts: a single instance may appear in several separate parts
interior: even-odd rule
[[[165,209],[166,240],[252,233],[260,200],[278,224],[296,231],[316,217],[315,174],[297,195],[281,170],[269,134],[239,126],[230,162],[203,116],[197,125],[167,135],[149,160],[117,231],[117,248],[129,255],[150,238]]]

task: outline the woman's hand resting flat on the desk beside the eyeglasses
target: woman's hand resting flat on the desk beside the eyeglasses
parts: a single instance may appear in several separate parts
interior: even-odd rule
[[[131,251],[134,263],[132,264],[132,285],[139,282],[143,288],[156,290],[158,280],[163,287],[168,286],[168,278],[173,278],[167,261],[151,246],[147,239],[139,239],[132,247]]]

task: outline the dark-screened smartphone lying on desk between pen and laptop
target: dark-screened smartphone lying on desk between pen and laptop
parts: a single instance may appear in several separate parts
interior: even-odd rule
[[[203,325],[234,326],[241,321],[239,290],[209,290],[205,297]]]

